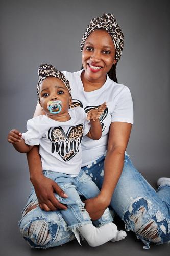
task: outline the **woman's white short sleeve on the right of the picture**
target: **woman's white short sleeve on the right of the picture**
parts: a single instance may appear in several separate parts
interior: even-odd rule
[[[125,87],[117,96],[111,118],[112,122],[133,124],[133,101],[128,87]]]

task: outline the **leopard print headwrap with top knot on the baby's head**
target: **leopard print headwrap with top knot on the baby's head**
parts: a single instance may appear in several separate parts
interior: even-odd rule
[[[38,101],[40,101],[39,98],[39,88],[40,88],[40,84],[41,82],[48,76],[50,77],[57,77],[58,79],[60,79],[66,86],[66,88],[68,89],[69,94],[71,95],[71,88],[69,85],[69,81],[66,79],[66,77],[64,76],[64,74],[55,69],[55,67],[51,64],[41,64],[39,66],[38,69],[38,84],[37,84],[37,95],[38,95]]]

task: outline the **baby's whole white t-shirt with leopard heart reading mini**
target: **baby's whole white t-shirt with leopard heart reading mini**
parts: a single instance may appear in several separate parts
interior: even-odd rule
[[[81,141],[90,130],[82,108],[69,109],[70,120],[58,122],[47,115],[28,120],[25,143],[39,145],[42,169],[77,176],[82,164]]]

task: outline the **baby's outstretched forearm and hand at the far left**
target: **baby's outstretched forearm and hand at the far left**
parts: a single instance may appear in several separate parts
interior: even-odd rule
[[[15,150],[21,153],[27,153],[31,150],[33,146],[25,144],[24,139],[22,139],[21,137],[22,134],[18,130],[13,129],[8,134],[8,142],[12,143]]]

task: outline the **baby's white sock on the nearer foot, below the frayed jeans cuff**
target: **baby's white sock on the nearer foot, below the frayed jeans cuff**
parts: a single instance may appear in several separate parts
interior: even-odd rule
[[[79,227],[78,230],[92,247],[102,245],[117,237],[117,226],[114,223],[107,223],[98,228],[87,224]]]

